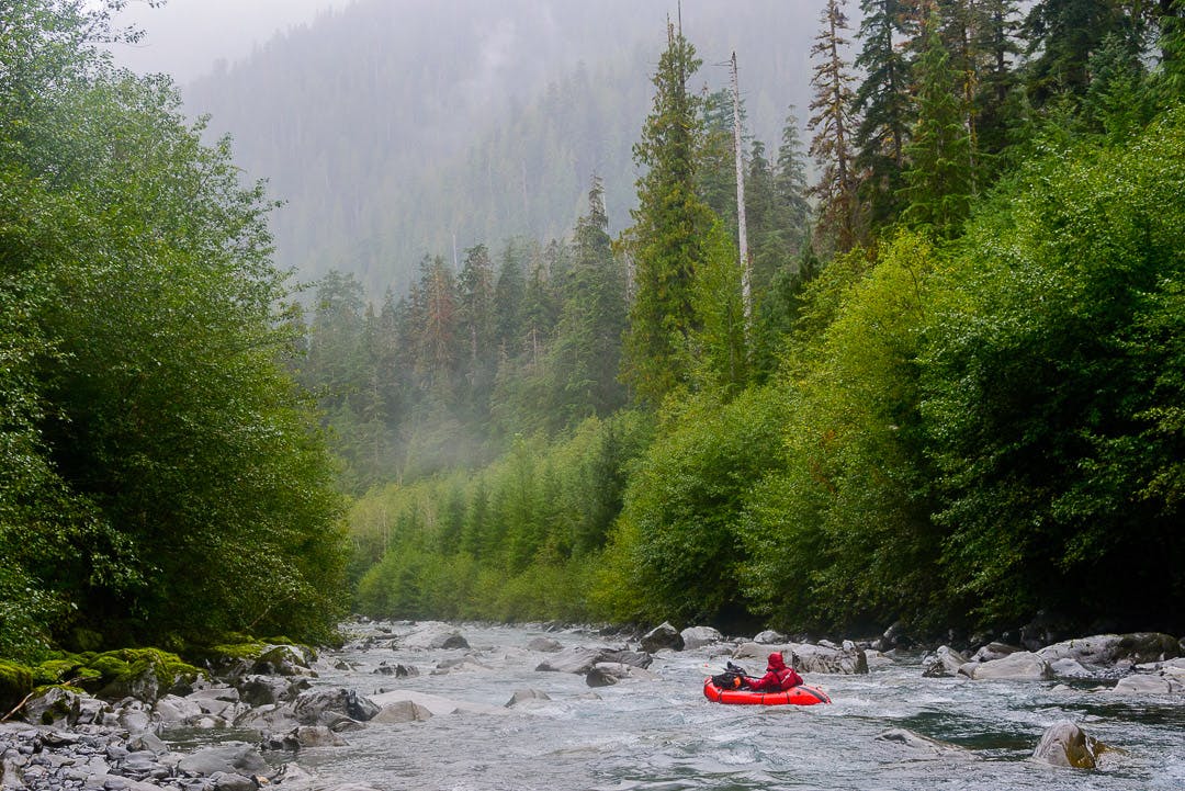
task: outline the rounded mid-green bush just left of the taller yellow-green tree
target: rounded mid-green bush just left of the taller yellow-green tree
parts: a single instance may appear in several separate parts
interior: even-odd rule
[[[780,407],[767,390],[672,405],[630,476],[609,555],[620,565],[594,592],[600,607],[655,622],[745,619],[736,581],[748,558],[742,517],[754,482],[782,464]]]

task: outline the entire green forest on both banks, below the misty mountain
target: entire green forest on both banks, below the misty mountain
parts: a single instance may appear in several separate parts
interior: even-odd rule
[[[307,300],[134,31],[0,7],[0,655],[326,639],[351,596],[1185,630],[1185,2],[846,5],[766,140],[653,31],[624,230],[592,168],[562,234]]]

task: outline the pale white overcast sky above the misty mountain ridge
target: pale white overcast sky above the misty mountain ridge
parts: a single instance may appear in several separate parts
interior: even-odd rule
[[[116,63],[133,71],[162,71],[186,83],[210,71],[216,60],[233,63],[275,33],[350,1],[168,0],[164,7],[152,8],[146,0],[130,0],[116,24],[135,25],[147,34],[134,46],[114,46],[111,53]]]

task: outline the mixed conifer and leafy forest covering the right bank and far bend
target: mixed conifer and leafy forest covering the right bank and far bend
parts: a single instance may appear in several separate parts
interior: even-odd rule
[[[328,283],[367,361],[328,401],[364,611],[1180,630],[1185,8],[860,5],[818,4],[809,140],[744,144],[748,266],[670,27],[611,246],[594,185],[565,244],[322,284],[302,375]]]

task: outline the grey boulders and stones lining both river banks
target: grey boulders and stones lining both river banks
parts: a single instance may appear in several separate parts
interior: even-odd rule
[[[396,636],[384,624],[360,625],[354,648],[399,645],[428,656],[448,651],[433,671],[478,662],[461,630],[441,623],[404,624],[410,632]],[[558,628],[557,628],[558,629]],[[892,636],[876,641],[793,642],[767,631],[752,638],[725,638],[706,626],[675,630],[670,624],[645,635],[616,635],[617,644],[598,644],[592,631],[588,644],[564,648],[537,637],[524,652],[536,657],[534,670],[583,675],[589,687],[646,683],[661,651],[703,651],[709,657],[764,662],[781,651],[803,674],[864,674],[885,663],[916,663],[925,677],[961,677],[967,682],[1020,680],[1094,682],[1101,694],[1145,699],[1168,696],[1185,702],[1185,645],[1154,632],[1095,635],[1029,650],[1029,647],[989,642],[974,651],[947,645],[920,651],[888,648]],[[460,656],[455,656],[457,651]],[[505,712],[525,701],[546,697],[531,689],[514,690],[505,707],[482,707],[402,689],[401,677],[416,667],[380,664],[391,688],[363,695],[347,688],[314,688],[320,671],[340,662],[332,652],[318,656],[296,645],[265,645],[255,657],[212,665],[209,675],[172,680],[143,677],[121,687],[120,697],[84,693],[65,686],[47,687],[23,701],[0,724],[0,787],[5,790],[66,791],[365,791],[365,785],[333,785],[302,770],[293,758],[307,747],[346,748],[348,734],[367,722],[414,722],[454,712]],[[145,670],[152,674],[152,668]],[[487,712],[488,709],[488,712]],[[217,732],[248,729],[252,744],[224,744],[194,752],[171,750],[166,739],[178,728]],[[162,735],[165,738],[162,738]],[[908,750],[933,752],[941,744],[908,732],[886,732],[886,741]],[[1033,753],[1044,763],[1093,767],[1107,753],[1075,724],[1050,728]]]

